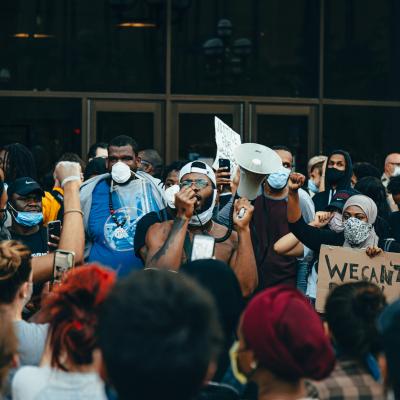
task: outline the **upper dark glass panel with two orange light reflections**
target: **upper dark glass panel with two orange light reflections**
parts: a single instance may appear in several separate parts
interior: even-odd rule
[[[3,0],[0,90],[162,92],[165,4]]]

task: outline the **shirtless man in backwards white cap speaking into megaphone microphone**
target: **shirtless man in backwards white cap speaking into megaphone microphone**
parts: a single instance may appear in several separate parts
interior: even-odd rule
[[[199,161],[188,163],[179,173],[179,184],[175,219],[152,225],[146,234],[146,245],[141,249],[146,267],[179,270],[182,263],[190,260],[188,242],[195,234],[220,238],[227,232],[226,227],[211,219],[217,195],[214,171]],[[245,212],[240,218],[242,208]],[[258,281],[249,227],[252,215],[253,206],[247,199],[236,200],[235,232],[215,244],[215,258],[231,266],[245,297],[253,293]]]

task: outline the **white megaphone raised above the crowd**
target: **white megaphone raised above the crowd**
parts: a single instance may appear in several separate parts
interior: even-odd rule
[[[267,146],[258,143],[243,143],[234,150],[234,156],[240,167],[240,182],[237,193],[240,197],[254,200],[266,175],[278,172],[282,160]]]

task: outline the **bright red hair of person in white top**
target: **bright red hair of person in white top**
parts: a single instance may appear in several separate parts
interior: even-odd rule
[[[44,320],[49,322],[51,365],[68,371],[73,365],[93,362],[97,347],[99,306],[115,282],[115,272],[98,265],[73,269],[44,301]],[[64,361],[62,361],[64,360]]]

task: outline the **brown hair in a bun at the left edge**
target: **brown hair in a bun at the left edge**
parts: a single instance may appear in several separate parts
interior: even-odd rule
[[[31,251],[16,240],[0,242],[0,303],[13,302],[31,274]]]

